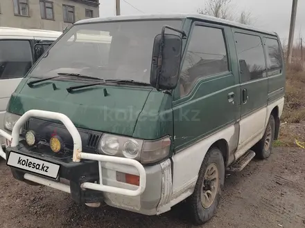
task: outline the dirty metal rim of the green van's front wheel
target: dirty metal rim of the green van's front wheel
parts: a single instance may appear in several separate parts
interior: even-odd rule
[[[201,190],[201,204],[205,209],[211,207],[216,195],[218,193],[219,172],[215,163],[209,164],[204,173],[202,190]]]

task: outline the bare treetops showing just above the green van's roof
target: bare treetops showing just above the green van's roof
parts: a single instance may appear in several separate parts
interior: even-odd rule
[[[204,9],[198,9],[198,13],[202,15],[209,15],[218,17],[221,19],[227,19],[231,21],[238,21],[247,25],[252,24],[251,12],[243,11],[241,15],[236,17],[236,13],[233,10],[232,0],[209,0]]]

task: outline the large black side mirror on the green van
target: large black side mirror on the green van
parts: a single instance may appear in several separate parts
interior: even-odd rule
[[[177,86],[182,57],[182,38],[164,34],[165,28],[171,27],[164,26],[162,34],[155,37],[150,71],[150,84],[158,91],[171,90]]]

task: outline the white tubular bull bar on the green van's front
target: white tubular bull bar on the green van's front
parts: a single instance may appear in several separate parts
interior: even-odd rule
[[[26,123],[26,121],[30,117],[43,117],[51,120],[60,120],[62,124],[67,128],[69,133],[73,138],[73,162],[80,162],[80,160],[95,160],[98,161],[98,172],[100,183],[92,183],[92,182],[84,182],[81,184],[83,189],[93,189],[96,191],[103,191],[108,193],[117,193],[125,196],[140,196],[146,188],[146,171],[142,164],[136,160],[132,160],[129,158],[118,158],[109,155],[98,155],[92,153],[83,153],[82,152],[82,140],[80,138],[80,133],[74,126],[73,122],[62,113],[55,113],[50,111],[42,111],[42,110],[30,110],[24,113],[19,120],[17,120],[15,126],[12,129],[12,135],[9,135],[5,131],[0,130],[0,135],[5,137],[7,140],[11,142],[11,146],[15,147],[19,144],[19,133]],[[6,153],[3,151],[0,146],[0,155],[2,158],[6,159]],[[103,184],[103,173],[102,173],[102,162],[112,162],[116,164],[125,164],[131,167],[134,167],[139,172],[139,187],[136,190],[123,189],[119,187],[112,187]],[[62,184],[60,182],[53,182],[51,180],[46,180],[44,178],[40,178],[36,175],[32,175],[26,173],[24,175],[24,179],[30,180],[33,182],[37,182],[39,184],[44,184],[46,186],[52,187],[54,189],[58,189],[61,191],[65,191],[70,193],[70,187],[67,184]]]

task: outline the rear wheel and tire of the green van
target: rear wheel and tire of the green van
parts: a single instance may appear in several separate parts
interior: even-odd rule
[[[253,146],[253,151],[256,153],[256,158],[266,159],[271,155],[273,141],[275,139],[275,117],[270,115],[265,133],[259,142]]]

